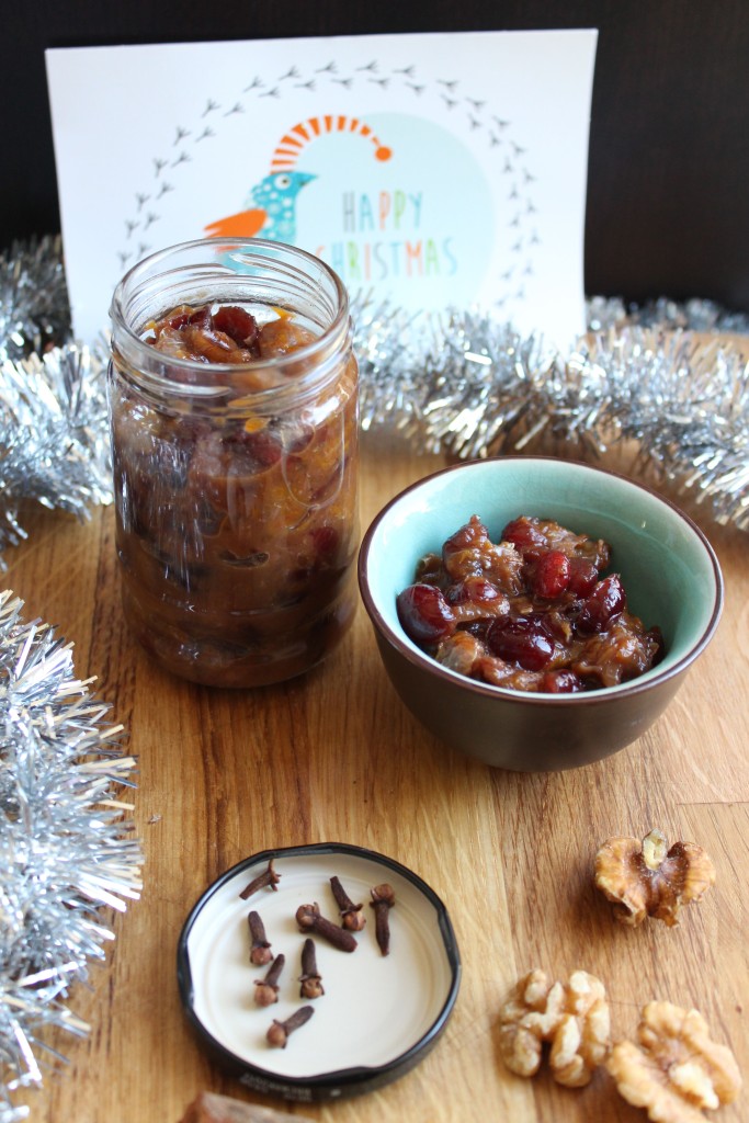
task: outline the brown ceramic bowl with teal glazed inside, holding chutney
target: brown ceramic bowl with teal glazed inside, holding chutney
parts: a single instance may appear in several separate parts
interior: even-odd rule
[[[630,612],[663,631],[663,660],[629,683],[577,694],[511,691],[437,664],[403,631],[395,599],[413,583],[419,558],[438,553],[472,514],[493,540],[521,514],[605,539]],[[385,669],[409,710],[453,748],[518,772],[579,767],[641,737],[704,651],[723,603],[718,559],[683,511],[616,473],[550,457],[463,463],[405,489],[367,530],[358,578]]]

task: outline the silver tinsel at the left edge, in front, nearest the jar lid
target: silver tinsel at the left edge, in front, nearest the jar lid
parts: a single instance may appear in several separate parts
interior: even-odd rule
[[[143,861],[122,728],[75,677],[73,645],[21,610],[0,593],[0,1123],[27,1117],[19,1094],[61,1060],[49,1031],[88,1032],[71,987],[104,958],[102,909],[138,898]]]

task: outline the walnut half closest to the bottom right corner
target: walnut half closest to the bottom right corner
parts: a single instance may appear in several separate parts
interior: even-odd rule
[[[638,1044],[622,1041],[605,1060],[624,1099],[655,1123],[704,1123],[702,1108],[732,1103],[741,1088],[736,1058],[715,1044],[696,1010],[669,1002],[642,1008]]]

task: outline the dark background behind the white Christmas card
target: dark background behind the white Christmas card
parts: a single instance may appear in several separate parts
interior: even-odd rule
[[[586,292],[749,312],[749,0],[4,0],[0,249],[60,230],[46,47],[567,27],[599,28]]]

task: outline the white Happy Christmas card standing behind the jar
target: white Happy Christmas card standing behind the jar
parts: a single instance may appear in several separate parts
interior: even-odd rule
[[[76,337],[107,327],[140,257],[250,211],[353,294],[481,309],[566,346],[584,329],[596,35],[48,51]]]

